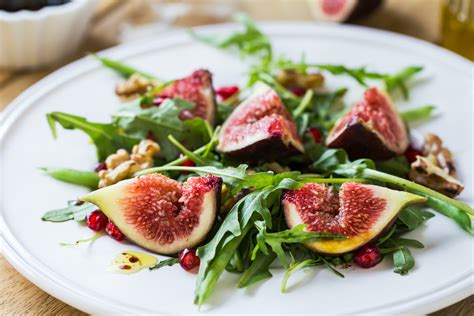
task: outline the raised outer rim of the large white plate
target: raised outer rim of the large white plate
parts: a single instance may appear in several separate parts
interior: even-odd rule
[[[466,74],[471,77],[469,68],[473,67],[473,63],[469,60],[452,53],[442,47],[438,47],[432,43],[412,38],[403,34],[393,33],[384,30],[372,29],[369,27],[355,26],[355,25],[332,25],[324,23],[312,23],[312,22],[265,22],[259,23],[262,28],[269,32],[272,35],[279,35],[284,30],[284,33],[293,33],[299,35],[309,36],[311,33],[314,35],[315,31],[326,30],[329,32],[341,33],[347,31],[351,33],[350,36],[361,36],[366,37],[367,35],[375,36],[371,39],[374,42],[380,42],[380,39],[383,37],[382,42],[386,42],[389,39],[392,39],[391,44],[400,47],[400,45],[414,45],[422,49],[422,51],[430,50],[430,55],[439,55],[449,61],[449,66],[458,68],[460,73]],[[197,31],[202,32],[215,32],[225,29],[233,29],[238,27],[234,23],[224,23],[216,25],[206,25],[193,28]],[[340,34],[339,34],[340,35]],[[147,51],[163,49],[166,47],[172,47],[177,43],[185,40],[186,42],[192,41],[192,39],[187,35],[186,31],[176,30],[170,31],[162,36],[160,39],[143,39],[137,42],[130,42],[121,44],[106,50],[100,51],[98,53],[113,57],[113,58],[124,58],[132,57],[133,55],[145,53]],[[70,80],[76,76],[84,75],[89,71],[93,71],[101,67],[95,60],[92,60],[90,57],[85,56],[80,58],[68,65],[65,65],[53,73],[49,74],[45,78],[41,79],[37,83],[33,84],[31,87],[22,92],[18,97],[16,97],[3,111],[1,116],[1,126],[0,126],[0,143],[3,144],[3,139],[6,137],[8,131],[10,130],[11,124],[19,117],[21,114],[27,110],[31,103],[24,102],[28,98],[34,98],[35,95],[43,95],[45,91],[53,86],[57,86],[58,81],[60,80]],[[3,145],[2,145],[3,146]],[[3,152],[3,151],[2,151]],[[0,152],[0,162],[3,161],[3,154]],[[2,163],[3,165],[3,163]],[[0,170],[2,172],[3,168]],[[4,183],[4,178],[2,177],[1,184]],[[1,187],[1,186],[0,186]],[[120,313],[136,313],[137,311],[143,313],[156,313],[156,311],[147,310],[144,308],[137,309],[135,306],[128,304],[112,303],[110,300],[103,298],[97,298],[88,293],[87,290],[82,287],[74,287],[71,285],[71,281],[64,280],[61,275],[55,275],[54,273],[42,272],[40,268],[29,263],[26,258],[29,256],[28,251],[23,248],[23,246],[16,240],[12,232],[9,230],[8,225],[6,224],[3,218],[3,196],[0,196],[0,205],[2,206],[0,210],[0,248],[2,249],[2,254],[7,259],[8,262],[23,276],[28,280],[36,284],[41,289],[45,290],[50,295],[70,304],[82,311],[89,313],[110,313],[111,311],[116,311]],[[36,260],[36,259],[35,259]],[[468,272],[472,272],[471,271]],[[469,273],[471,274],[471,273]],[[69,283],[69,284],[68,284]],[[416,296],[415,298],[405,299],[403,302],[394,302],[391,305],[396,306],[374,306],[370,309],[357,311],[358,313],[393,313],[393,312],[432,312],[443,307],[446,307],[450,304],[453,304],[463,298],[468,297],[472,294],[472,285],[474,284],[472,278],[465,277],[465,275],[459,277],[456,281],[451,281],[451,284],[448,287],[443,287],[441,291],[434,291],[432,294],[425,294],[423,296]],[[441,294],[440,294],[441,293]]]

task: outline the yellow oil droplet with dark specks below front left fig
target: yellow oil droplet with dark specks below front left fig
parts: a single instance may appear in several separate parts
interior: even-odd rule
[[[158,263],[155,257],[137,251],[124,251],[112,262],[110,269],[119,273],[134,273]]]

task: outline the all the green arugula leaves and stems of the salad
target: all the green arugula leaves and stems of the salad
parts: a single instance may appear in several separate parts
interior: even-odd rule
[[[275,58],[270,40],[253,21],[244,15],[237,19],[243,29],[231,34],[204,36],[193,32],[192,35],[205,44],[238,52],[241,57],[252,60],[247,87],[239,97],[258,81],[273,87],[297,124],[304,141],[304,154],[282,159],[273,165],[253,167],[227,160],[215,150],[219,127],[213,130],[200,118],[186,121],[179,119],[179,113],[193,107],[193,103],[167,99],[159,107],[154,107],[150,105],[151,94],[117,109],[112,114],[110,123],[93,123],[85,118],[60,112],[47,115],[54,136],[56,124],[65,129],[78,129],[86,133],[97,148],[99,161],[104,161],[118,149],[130,150],[140,140],[152,135],[160,144],[161,156],[153,168],[137,172],[135,176],[159,172],[177,180],[185,180],[196,174],[213,174],[221,177],[228,188],[228,192],[223,195],[223,205],[239,196],[228,213],[219,215],[208,240],[197,250],[201,264],[196,280],[196,304],[202,305],[208,300],[226,270],[241,273],[237,286],[242,288],[272,277],[271,266],[280,265],[286,269],[281,284],[282,292],[287,291],[291,275],[309,267],[327,267],[337,276],[344,277],[340,268],[351,264],[353,253],[327,256],[311,252],[303,244],[315,240],[340,240],[345,236],[309,232],[304,225],[289,229],[285,223],[280,205],[281,194],[284,190],[300,188],[305,183],[328,183],[337,188],[341,183],[353,181],[413,192],[427,198],[424,206],[447,216],[464,231],[474,234],[471,224],[473,209],[458,200],[406,180],[409,164],[405,157],[387,161],[351,161],[344,150],[329,149],[308,134],[309,128],[316,128],[322,132],[322,137],[326,136],[335,121],[344,114],[344,96],[348,91],[346,87],[334,91],[308,90],[304,96],[297,96],[276,80],[276,74],[282,70],[292,69],[303,74],[321,71],[329,75],[349,76],[365,87],[373,82],[381,82],[389,92],[400,92],[404,98],[408,98],[408,82],[422,67],[410,66],[387,74],[368,70],[364,66],[350,68],[338,64],[309,63],[304,58],[300,61]],[[96,57],[104,66],[122,76],[129,77],[138,73],[145,78],[158,80],[153,75],[118,61]],[[220,121],[225,120],[233,109],[232,102],[220,102]],[[433,110],[433,106],[424,106],[401,112],[401,115],[407,123],[419,122],[429,119]],[[188,159],[196,166],[181,165]],[[275,164],[278,168],[275,168]],[[45,171],[61,181],[90,188],[97,186],[97,175],[92,172],[64,168],[47,168]],[[46,213],[43,220],[82,221],[93,209],[95,206],[89,203],[70,202],[64,209]],[[393,226],[374,241],[384,256],[392,257],[394,272],[404,275],[414,268],[415,259],[410,249],[423,248],[424,245],[402,236],[433,216],[433,213],[424,208],[407,207],[399,213]],[[177,262],[176,258],[163,260],[150,270]]]

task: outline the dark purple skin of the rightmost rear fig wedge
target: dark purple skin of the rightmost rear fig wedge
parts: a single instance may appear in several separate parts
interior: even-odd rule
[[[383,160],[397,155],[387,148],[376,133],[357,120],[352,120],[327,146],[344,148],[352,160],[367,157]]]

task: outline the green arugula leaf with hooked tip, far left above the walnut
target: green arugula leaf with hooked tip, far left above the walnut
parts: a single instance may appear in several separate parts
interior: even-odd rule
[[[79,129],[89,135],[97,148],[97,156],[104,161],[118,149],[131,150],[140,138],[126,135],[114,124],[91,123],[85,118],[62,112],[52,112],[46,115],[53,136],[56,138],[56,123],[65,129]]]

